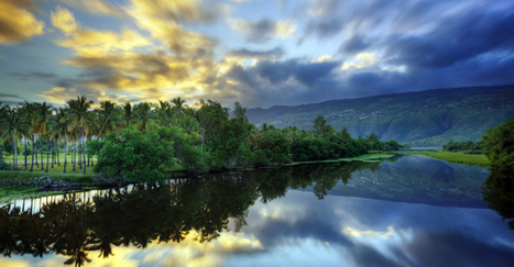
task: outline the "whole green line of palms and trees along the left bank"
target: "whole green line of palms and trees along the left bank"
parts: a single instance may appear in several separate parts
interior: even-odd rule
[[[119,105],[102,101],[97,109],[92,105],[84,96],[68,100],[62,108],[45,102],[24,102],[13,108],[0,104],[0,141],[12,144],[14,167],[21,166],[18,146],[25,147],[23,167],[31,171],[34,165],[41,165],[42,169],[45,166],[46,171],[54,162],[61,165],[59,160],[50,158],[52,154],[58,159],[62,148],[64,173],[70,154],[73,170],[78,165],[85,174],[89,163],[94,163],[91,157],[97,157],[95,173],[129,180],[140,176],[162,177],[174,165],[205,171],[352,157],[368,151],[400,148],[397,142],[381,142],[374,133],[353,138],[346,129],[338,132],[327,125],[322,116],[313,122],[314,130],[275,129],[267,124],[258,129],[249,123],[247,109],[238,102],[232,116],[228,108],[210,100],[200,100],[195,108],[186,105],[181,98],[157,104]],[[37,152],[41,152],[40,163]]]

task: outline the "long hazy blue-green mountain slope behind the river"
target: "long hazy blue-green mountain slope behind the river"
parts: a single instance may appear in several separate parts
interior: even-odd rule
[[[379,133],[414,146],[479,141],[485,130],[514,116],[514,86],[435,89],[295,107],[249,109],[251,123],[311,129],[317,115],[352,136]]]

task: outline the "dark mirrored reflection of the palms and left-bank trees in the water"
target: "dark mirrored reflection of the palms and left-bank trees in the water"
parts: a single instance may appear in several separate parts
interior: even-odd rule
[[[68,194],[51,199],[34,212],[11,204],[0,208],[0,253],[56,253],[69,257],[65,264],[89,263],[89,252],[99,257],[114,255],[113,246],[184,241],[190,233],[198,242],[209,242],[228,230],[247,224],[248,209],[261,198],[267,202],[285,194],[287,188],[313,186],[322,199],[338,181],[368,168],[364,163],[303,165],[259,171],[222,173],[204,180],[175,180],[171,186],[106,190],[88,197]]]

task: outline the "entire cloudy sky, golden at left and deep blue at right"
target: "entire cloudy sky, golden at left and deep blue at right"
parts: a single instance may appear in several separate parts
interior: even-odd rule
[[[514,84],[512,0],[0,0],[0,101],[295,105]]]

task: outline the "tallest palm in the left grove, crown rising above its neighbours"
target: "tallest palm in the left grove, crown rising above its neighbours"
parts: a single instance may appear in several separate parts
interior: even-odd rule
[[[83,153],[86,151],[85,145],[85,132],[88,133],[94,126],[94,114],[89,111],[94,102],[91,100],[87,101],[85,96],[77,97],[76,100],[72,99],[67,101],[69,113],[68,113],[68,130],[73,131],[78,129],[80,131],[80,143],[83,146]],[[84,175],[86,174],[86,157],[84,157]]]

